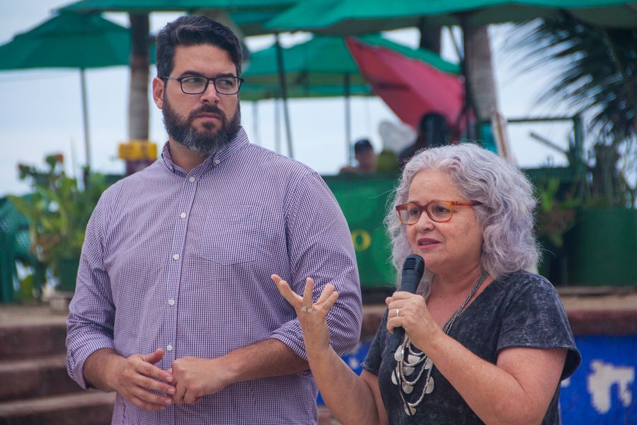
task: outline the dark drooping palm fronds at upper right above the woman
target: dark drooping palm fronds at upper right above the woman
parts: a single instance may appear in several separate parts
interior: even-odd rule
[[[592,136],[591,195],[607,205],[635,207],[637,171],[637,28],[604,29],[568,13],[516,26],[510,48],[523,70],[560,64],[539,96],[583,113]]]

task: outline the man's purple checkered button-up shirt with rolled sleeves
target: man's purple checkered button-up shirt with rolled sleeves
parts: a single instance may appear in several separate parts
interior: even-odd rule
[[[163,347],[176,358],[215,358],[268,338],[306,358],[294,310],[270,279],[314,300],[340,293],[328,315],[340,354],[357,344],[362,319],[352,239],[321,177],[248,142],[241,128],[222,152],[186,173],[162,159],[103,193],[86,229],[68,319],[67,368],[82,387],[86,358]],[[311,374],[229,385],[195,405],[148,412],[119,395],[113,424],[316,424]]]

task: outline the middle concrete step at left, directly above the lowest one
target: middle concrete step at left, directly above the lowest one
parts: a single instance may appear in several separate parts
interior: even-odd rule
[[[69,378],[64,354],[0,361],[0,402],[83,391]]]

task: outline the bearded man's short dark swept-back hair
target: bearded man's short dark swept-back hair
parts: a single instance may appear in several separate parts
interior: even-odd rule
[[[155,63],[157,76],[168,77],[175,66],[177,46],[214,45],[228,52],[241,77],[241,45],[232,30],[207,16],[180,16],[157,33]]]

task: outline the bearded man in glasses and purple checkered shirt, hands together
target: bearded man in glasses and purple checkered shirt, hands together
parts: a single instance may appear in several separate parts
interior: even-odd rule
[[[338,353],[357,344],[350,232],[320,176],[241,128],[241,47],[183,16],[157,35],[161,158],[115,183],[86,229],[67,368],[116,391],[113,424],[316,424],[302,332],[273,273],[332,283]]]

